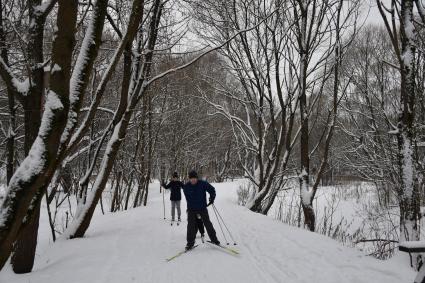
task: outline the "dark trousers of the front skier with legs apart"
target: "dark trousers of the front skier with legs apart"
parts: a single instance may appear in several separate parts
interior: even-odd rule
[[[205,229],[207,230],[207,234],[208,237],[210,237],[210,240],[212,242],[217,242],[217,235],[210,221],[210,217],[208,216],[208,210],[205,208],[204,210],[188,210],[186,237],[187,243],[189,245],[195,243],[196,233],[198,232],[197,215],[201,216],[202,222],[205,225]]]

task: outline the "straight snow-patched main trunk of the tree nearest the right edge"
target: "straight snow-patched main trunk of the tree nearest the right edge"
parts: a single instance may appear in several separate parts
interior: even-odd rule
[[[401,1],[401,111],[398,120],[398,160],[401,176],[400,240],[419,240],[420,202],[414,157],[415,118],[415,38],[413,0]]]

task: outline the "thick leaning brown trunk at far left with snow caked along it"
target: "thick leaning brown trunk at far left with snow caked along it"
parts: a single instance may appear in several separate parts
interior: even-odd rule
[[[57,36],[52,47],[50,91],[36,141],[13,175],[0,208],[0,268],[8,259],[28,208],[54,174],[61,134],[67,122],[69,79],[74,47],[77,1],[59,0]],[[37,105],[34,105],[37,107]],[[37,215],[34,215],[37,216]],[[30,218],[27,217],[27,220]],[[18,245],[19,247],[20,245]],[[28,270],[28,268],[25,268]]]

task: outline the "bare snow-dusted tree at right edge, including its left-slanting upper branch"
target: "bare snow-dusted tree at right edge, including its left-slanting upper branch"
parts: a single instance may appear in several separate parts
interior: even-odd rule
[[[415,4],[421,23],[425,20],[425,10],[420,1],[414,0],[391,1],[389,7],[385,7],[380,0],[376,2],[390,37],[400,73],[400,114],[397,126],[392,131],[397,137],[398,147],[397,169],[400,182],[397,184],[397,191],[400,202],[400,240],[419,240],[418,225],[421,214],[414,124],[418,40],[414,17]]]

